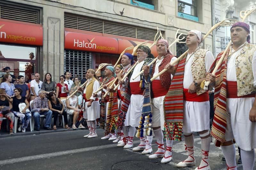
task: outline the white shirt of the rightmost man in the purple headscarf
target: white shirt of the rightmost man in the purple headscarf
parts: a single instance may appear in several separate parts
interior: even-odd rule
[[[245,42],[247,43],[247,42]],[[243,44],[244,45],[244,44]],[[241,46],[243,46],[241,45]],[[240,47],[241,47],[240,46]],[[239,47],[239,48],[240,48]],[[231,47],[232,48],[232,47]],[[237,81],[236,79],[236,57],[240,55],[240,52],[243,48],[235,50],[232,48],[229,54],[232,54],[228,60],[228,67],[227,67],[227,81]],[[256,87],[256,52],[253,53],[252,56],[252,73],[253,73],[253,85]]]

